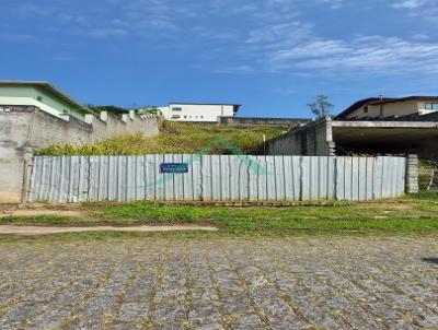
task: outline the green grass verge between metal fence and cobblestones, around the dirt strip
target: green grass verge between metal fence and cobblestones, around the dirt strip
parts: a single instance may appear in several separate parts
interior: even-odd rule
[[[308,234],[438,234],[437,193],[423,192],[396,202],[314,207],[199,207],[132,203],[83,203],[83,216],[7,216],[0,223],[46,225],[210,224],[214,233],[87,233],[81,237],[285,236]],[[78,210],[78,207],[74,208]],[[53,208],[50,208],[53,210]],[[71,234],[77,236],[79,234]],[[71,236],[66,235],[66,236]]]

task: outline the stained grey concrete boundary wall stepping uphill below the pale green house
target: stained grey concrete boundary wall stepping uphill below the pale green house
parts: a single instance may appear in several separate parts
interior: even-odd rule
[[[0,105],[1,107],[1,105]],[[74,117],[51,116],[34,106],[10,106],[0,113],[0,203],[18,203],[22,197],[24,158],[37,148],[55,143],[82,144],[124,133],[158,133],[157,118],[125,115],[126,122],[108,115],[85,123]]]

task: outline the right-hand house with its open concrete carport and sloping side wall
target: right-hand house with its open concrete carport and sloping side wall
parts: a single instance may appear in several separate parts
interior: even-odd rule
[[[278,155],[401,155],[438,158],[438,97],[367,98],[334,118],[312,121],[261,153]]]

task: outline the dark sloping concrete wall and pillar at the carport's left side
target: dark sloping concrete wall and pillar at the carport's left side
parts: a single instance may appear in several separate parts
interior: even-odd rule
[[[332,121],[330,118],[310,122],[286,134],[267,141],[258,151],[266,155],[334,155]]]

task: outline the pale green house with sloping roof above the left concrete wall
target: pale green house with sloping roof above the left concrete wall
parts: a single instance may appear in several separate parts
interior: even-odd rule
[[[0,81],[0,111],[9,106],[35,106],[59,118],[74,117],[85,121],[93,113],[47,82]]]

